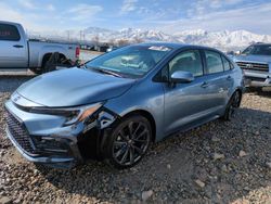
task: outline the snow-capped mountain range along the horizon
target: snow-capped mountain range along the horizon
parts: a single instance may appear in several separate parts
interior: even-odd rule
[[[238,50],[254,42],[271,42],[270,35],[258,35],[246,30],[207,31],[203,29],[183,30],[166,34],[159,30],[125,28],[112,30],[100,27],[88,27],[83,30],[64,30],[51,33],[28,33],[30,37],[66,39],[82,41],[117,42],[118,40],[138,41],[171,41],[181,43],[203,44],[222,50]]]

